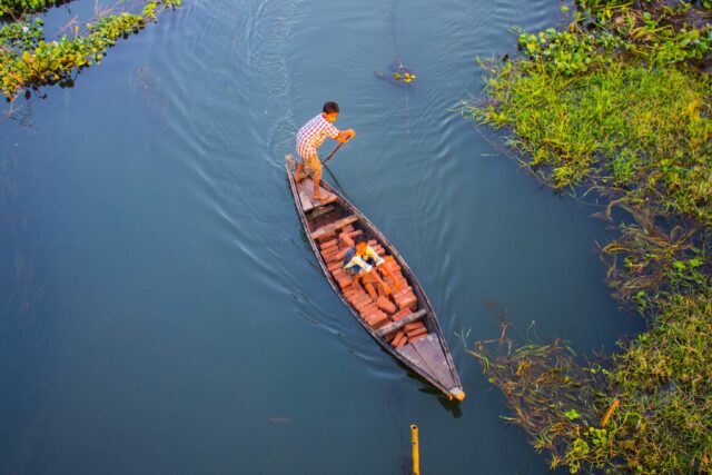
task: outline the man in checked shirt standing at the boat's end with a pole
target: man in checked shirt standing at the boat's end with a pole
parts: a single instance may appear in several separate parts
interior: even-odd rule
[[[301,161],[297,164],[295,179],[301,181],[307,174],[314,180],[314,198],[324,199],[326,195],[319,189],[322,181],[322,161],[316,154],[316,149],[324,144],[327,137],[342,144],[356,136],[354,129],[340,131],[334,127],[334,121],[338,117],[338,103],[326,102],[322,113],[305,123],[297,132],[297,154]],[[305,171],[306,169],[306,171]]]

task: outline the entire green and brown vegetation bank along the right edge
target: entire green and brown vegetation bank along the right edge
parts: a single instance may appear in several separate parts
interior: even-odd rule
[[[578,7],[564,28],[518,31],[518,58],[483,62],[486,101],[462,111],[507,131],[553,189],[605,200],[607,283],[649,330],[590,362],[560,340],[512,350],[506,326],[471,352],[552,467],[710,473],[712,4]]]

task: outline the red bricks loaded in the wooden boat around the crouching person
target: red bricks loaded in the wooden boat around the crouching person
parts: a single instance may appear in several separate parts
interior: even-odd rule
[[[338,232],[338,235],[337,235]],[[354,237],[363,235],[359,229],[354,229],[352,225],[345,226],[340,231],[329,232],[319,238],[319,249],[322,257],[326,261],[327,269],[334,276],[346,299],[356,308],[364,320],[374,329],[380,328],[392,321],[398,321],[411,315],[417,308],[417,297],[408,281],[403,277],[400,266],[393,256],[385,255],[385,249],[378,241],[368,241],[378,256],[385,259],[384,266],[378,268],[384,281],[395,290],[390,297],[385,295],[379,285],[374,279],[366,277],[362,286],[353,281],[342,268],[342,260],[346,250],[354,246]],[[395,281],[382,267],[388,267]],[[396,281],[398,286],[396,286]],[[386,335],[386,340],[396,348],[424,338],[427,329],[423,323],[406,325],[400,330]]]

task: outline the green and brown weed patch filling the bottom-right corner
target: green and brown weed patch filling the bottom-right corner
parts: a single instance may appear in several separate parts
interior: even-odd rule
[[[512,352],[506,334],[469,349],[512,408],[504,419],[550,454],[552,468],[712,469],[712,287],[655,305],[651,331],[599,363],[577,360],[561,340]]]

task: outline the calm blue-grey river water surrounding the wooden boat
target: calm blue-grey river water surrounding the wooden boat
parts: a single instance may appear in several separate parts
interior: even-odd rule
[[[70,6],[48,23],[95,8]],[[0,473],[400,474],[411,423],[424,474],[547,473],[455,333],[498,335],[486,301],[582,352],[639,323],[602,284],[597,209],[449,109],[481,93],[476,56],[558,7],[188,0],[3,120]],[[407,91],[374,77],[397,59]],[[326,100],[358,132],[332,171],[437,308],[459,407],[379,349],[306,245],[284,156]]]

